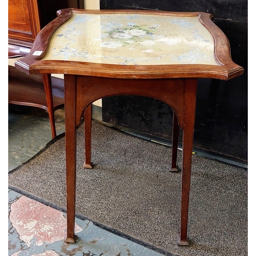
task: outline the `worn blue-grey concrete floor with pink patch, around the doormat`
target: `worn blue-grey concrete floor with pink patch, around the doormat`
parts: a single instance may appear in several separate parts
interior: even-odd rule
[[[65,131],[64,111],[55,112],[57,135]],[[26,162],[51,140],[45,111],[9,105],[8,172]],[[8,189],[8,256],[124,256],[162,254],[76,219],[76,244],[67,244],[66,214]]]

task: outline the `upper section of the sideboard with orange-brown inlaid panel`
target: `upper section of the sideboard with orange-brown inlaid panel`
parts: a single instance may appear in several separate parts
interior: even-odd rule
[[[8,56],[26,56],[23,51],[13,52],[13,47],[30,50],[36,35],[56,17],[56,11],[69,7],[83,9],[83,0],[8,0]]]

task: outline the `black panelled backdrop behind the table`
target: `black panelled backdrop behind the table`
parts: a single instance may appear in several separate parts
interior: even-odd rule
[[[100,0],[100,9],[208,12],[230,42],[231,57],[244,74],[228,81],[199,79],[194,146],[208,153],[247,162],[247,15],[245,0]],[[102,99],[104,122],[172,140],[173,111],[165,103],[141,96]],[[182,142],[180,131],[179,142]]]

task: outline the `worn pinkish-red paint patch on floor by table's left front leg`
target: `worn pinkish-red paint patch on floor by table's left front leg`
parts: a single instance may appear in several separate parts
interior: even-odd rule
[[[36,244],[44,242],[53,243],[64,240],[66,237],[67,220],[63,212],[46,206],[25,196],[20,197],[11,205],[10,221],[16,228],[20,239],[28,246],[30,241],[36,238]],[[82,229],[76,225],[75,232]],[[57,254],[39,254],[40,256],[55,256]],[[52,251],[52,253],[55,253]],[[37,255],[38,256],[38,255]]]

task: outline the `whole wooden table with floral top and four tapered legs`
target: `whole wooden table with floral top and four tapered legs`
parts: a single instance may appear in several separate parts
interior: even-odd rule
[[[229,42],[202,12],[63,9],[40,31],[31,52],[15,62],[28,74],[61,73],[65,82],[67,239],[75,243],[76,129],[85,113],[86,160],[91,164],[91,104],[114,95],[158,99],[174,111],[172,170],[178,126],[183,130],[181,229],[187,238],[197,79],[243,74]],[[48,87],[50,88],[48,83]],[[49,89],[48,88],[48,89]]]

